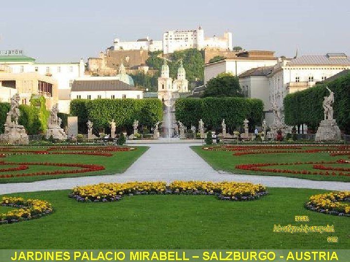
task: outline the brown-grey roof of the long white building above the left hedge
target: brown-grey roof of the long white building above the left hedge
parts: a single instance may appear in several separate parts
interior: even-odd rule
[[[71,91],[140,91],[140,88],[120,80],[75,80]]]

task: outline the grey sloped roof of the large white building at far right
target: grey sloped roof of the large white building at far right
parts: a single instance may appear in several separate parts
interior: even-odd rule
[[[286,66],[350,66],[350,58],[344,53],[302,55],[288,62]]]

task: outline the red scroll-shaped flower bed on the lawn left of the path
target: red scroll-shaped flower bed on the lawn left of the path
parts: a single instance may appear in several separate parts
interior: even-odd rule
[[[77,173],[86,173],[86,172],[94,172],[105,170],[103,165],[96,164],[70,164],[70,163],[12,163],[12,162],[0,162],[1,165],[19,165],[18,167],[13,168],[14,170],[6,170],[6,171],[15,171],[15,170],[24,170],[28,168],[28,165],[52,165],[52,166],[67,166],[67,167],[80,167],[81,169],[72,169],[72,170],[56,170],[56,171],[42,171],[42,172],[33,172],[33,173],[21,173],[21,174],[0,174],[1,178],[14,178],[14,177],[32,177],[32,176],[47,176],[47,175],[62,175],[62,174],[77,174]],[[24,168],[24,167],[27,168]],[[23,169],[20,169],[23,168]],[[0,172],[4,172],[1,171]]]

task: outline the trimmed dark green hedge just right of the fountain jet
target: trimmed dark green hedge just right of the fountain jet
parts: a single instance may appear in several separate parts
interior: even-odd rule
[[[255,128],[262,122],[263,102],[249,98],[182,98],[175,102],[175,116],[185,126],[198,127],[202,119],[207,129],[220,130],[223,118],[229,131],[243,126],[245,118],[249,127]]]

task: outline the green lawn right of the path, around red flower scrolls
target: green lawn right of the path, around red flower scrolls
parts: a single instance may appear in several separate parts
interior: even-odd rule
[[[350,177],[345,176],[321,176],[288,173],[254,172],[237,169],[238,164],[254,163],[294,163],[294,162],[321,162],[336,161],[337,159],[349,160],[348,156],[330,156],[328,152],[319,153],[273,153],[273,154],[253,154],[234,156],[232,151],[209,151],[202,149],[202,146],[191,147],[200,157],[216,170],[223,170],[235,174],[262,175],[262,176],[283,176],[309,180],[332,180],[350,182]],[[304,149],[312,149],[310,147]],[[350,168],[350,164],[325,164],[326,166]],[[267,168],[321,171],[313,169],[313,164],[288,165],[288,166],[268,166]],[[323,170],[324,171],[324,170]],[[332,171],[330,171],[332,173]],[[345,172],[348,173],[348,172]],[[350,187],[350,185],[349,185]]]

